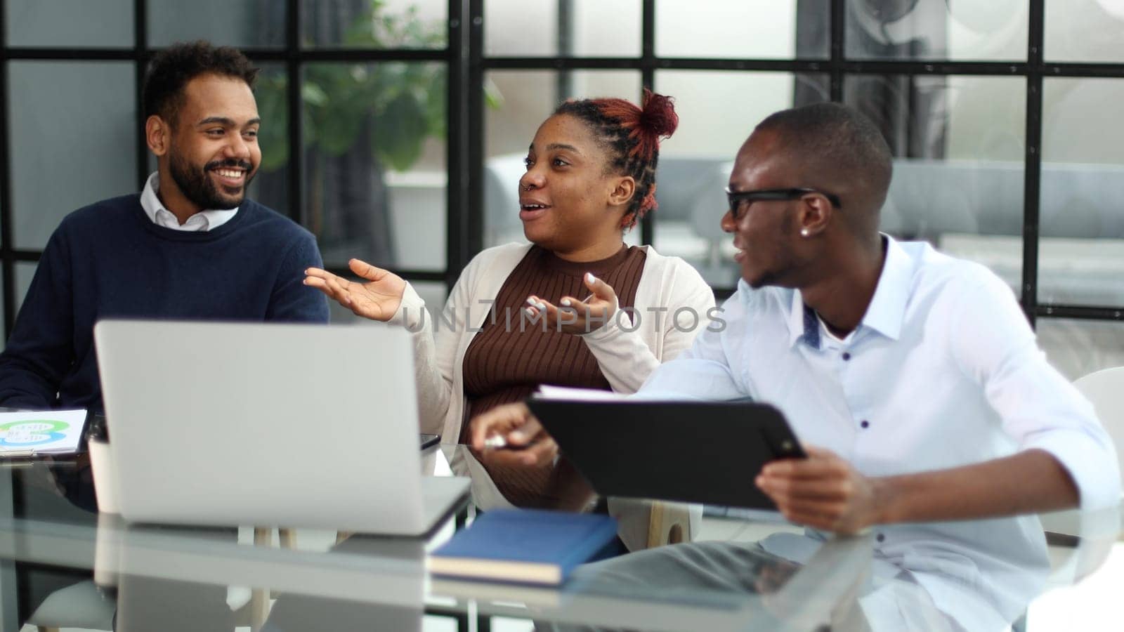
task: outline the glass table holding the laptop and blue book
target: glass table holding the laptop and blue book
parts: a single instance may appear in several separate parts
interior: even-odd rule
[[[442,445],[427,459],[447,476],[465,450]],[[1079,611],[1115,616],[1124,578],[1118,511],[1051,516],[1066,533],[1050,535],[1049,547],[1041,532],[1027,547],[994,551],[950,543],[927,566],[889,554],[880,530],[809,536],[777,517],[734,511],[705,516],[694,543],[588,565],[546,588],[427,572],[428,552],[471,520],[471,507],[426,539],[298,529],[294,545],[281,548],[250,525],[130,525],[91,502],[81,464],[0,467],[0,630],[24,622],[143,631],[980,629],[964,621],[1072,630],[1084,629],[1073,624]],[[787,542],[795,553],[759,540]],[[988,575],[1001,580],[972,585],[963,570],[972,565],[1001,569]],[[944,588],[932,577],[945,579]],[[961,588],[982,597],[960,599],[951,614],[936,605],[945,603],[940,590]]]

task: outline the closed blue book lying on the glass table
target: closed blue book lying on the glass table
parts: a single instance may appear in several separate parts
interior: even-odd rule
[[[434,575],[559,585],[617,534],[617,521],[601,514],[496,509],[433,552]]]

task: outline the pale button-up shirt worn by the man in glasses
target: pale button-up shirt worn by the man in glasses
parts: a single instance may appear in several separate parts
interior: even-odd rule
[[[834,451],[867,476],[1037,448],[1070,472],[1082,508],[1118,504],[1112,440],[1093,406],[1046,363],[1010,289],[982,265],[925,243],[886,240],[874,296],[843,340],[823,335],[799,290],[741,281],[723,306],[725,329],[704,331],[641,392],[768,401],[801,442]],[[876,533],[878,556],[909,570],[969,630],[1014,620],[1048,568],[1035,516]],[[999,619],[987,619],[996,611]]]

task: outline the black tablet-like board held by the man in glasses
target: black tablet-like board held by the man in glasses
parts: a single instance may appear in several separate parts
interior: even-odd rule
[[[531,398],[527,406],[602,496],[776,509],[753,479],[769,461],[805,457],[767,404]]]

